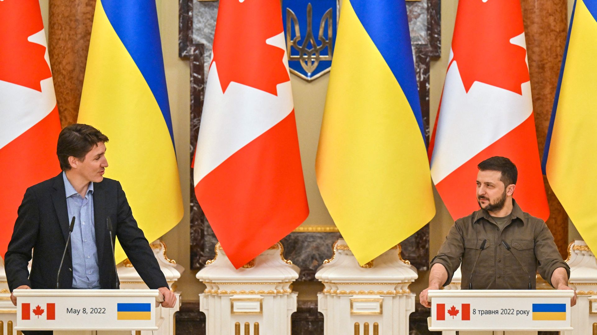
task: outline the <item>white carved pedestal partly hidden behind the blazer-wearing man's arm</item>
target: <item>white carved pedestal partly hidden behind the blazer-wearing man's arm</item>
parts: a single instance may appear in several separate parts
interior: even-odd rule
[[[158,240],[152,243],[151,247],[170,289],[176,294],[176,304],[174,308],[162,308],[161,306],[156,308],[156,319],[164,318],[162,325],[158,330],[143,330],[140,333],[141,335],[174,335],[174,314],[180,310],[180,291],[176,291],[176,281],[179,280],[184,268],[174,260],[168,259],[164,242]],[[119,263],[116,266],[116,271],[118,272],[121,289],[149,289],[128,259]]]

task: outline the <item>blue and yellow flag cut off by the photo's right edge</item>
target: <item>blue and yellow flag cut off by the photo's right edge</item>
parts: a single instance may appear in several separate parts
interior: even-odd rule
[[[597,250],[597,0],[574,4],[549,122],[543,172],[592,250]]]

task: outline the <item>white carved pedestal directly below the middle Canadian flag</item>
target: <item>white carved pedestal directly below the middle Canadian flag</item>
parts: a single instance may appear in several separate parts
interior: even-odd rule
[[[207,335],[290,335],[297,309],[291,284],[300,269],[284,259],[281,243],[235,269],[216,244],[216,258],[197,273],[207,289],[199,294]]]

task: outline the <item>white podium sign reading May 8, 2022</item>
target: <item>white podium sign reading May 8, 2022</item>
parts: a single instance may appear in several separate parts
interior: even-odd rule
[[[14,290],[14,296],[16,330],[158,330],[158,290]]]

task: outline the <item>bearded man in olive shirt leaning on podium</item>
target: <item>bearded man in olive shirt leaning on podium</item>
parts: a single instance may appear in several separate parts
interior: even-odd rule
[[[461,262],[461,289],[526,290],[529,285],[535,289],[539,272],[556,289],[572,290],[568,287],[570,268],[549,228],[543,220],[523,212],[512,198],[518,178],[514,163],[496,156],[477,167],[476,196],[481,209],[456,220],[448,232],[431,261],[429,287],[419,296],[421,305],[430,307],[427,291],[450,284]],[[575,304],[576,293],[571,299],[571,305]]]

